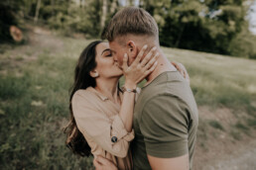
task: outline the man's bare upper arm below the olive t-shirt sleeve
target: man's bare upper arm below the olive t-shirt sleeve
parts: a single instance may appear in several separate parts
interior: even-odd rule
[[[189,170],[189,154],[174,158],[159,158],[147,155],[152,170]]]

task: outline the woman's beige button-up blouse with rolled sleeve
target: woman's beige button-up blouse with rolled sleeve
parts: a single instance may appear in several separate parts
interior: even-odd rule
[[[78,129],[91,148],[91,153],[112,160],[121,170],[132,169],[128,132],[119,117],[120,106],[108,100],[94,88],[78,90],[72,97],[72,112]],[[117,137],[112,142],[112,136]]]

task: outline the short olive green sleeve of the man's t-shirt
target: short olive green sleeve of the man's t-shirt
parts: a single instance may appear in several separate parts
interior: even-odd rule
[[[187,105],[172,95],[151,99],[143,108],[140,129],[147,154],[172,158],[189,153]]]

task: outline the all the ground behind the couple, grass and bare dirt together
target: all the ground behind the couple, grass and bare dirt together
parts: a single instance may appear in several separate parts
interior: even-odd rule
[[[4,82],[0,86],[0,117],[7,126],[0,128],[1,135],[7,137],[0,140],[0,153],[7,155],[0,160],[11,161],[2,168],[90,169],[91,159],[82,162],[70,157],[69,166],[66,155],[70,152],[64,147],[61,128],[68,120],[67,91],[73,66],[91,41],[63,38],[35,26],[28,26],[28,30],[25,44],[0,46],[0,78]],[[163,50],[170,60],[184,63],[191,75],[199,111],[194,169],[256,169],[256,61],[167,47]],[[22,141],[27,135],[35,146]]]

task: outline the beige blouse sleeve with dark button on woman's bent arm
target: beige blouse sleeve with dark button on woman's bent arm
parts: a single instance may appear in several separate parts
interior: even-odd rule
[[[111,121],[78,93],[72,98],[72,112],[76,125],[83,134],[91,136],[104,150],[117,157],[127,155],[134,130],[128,132],[119,115],[115,115]]]

